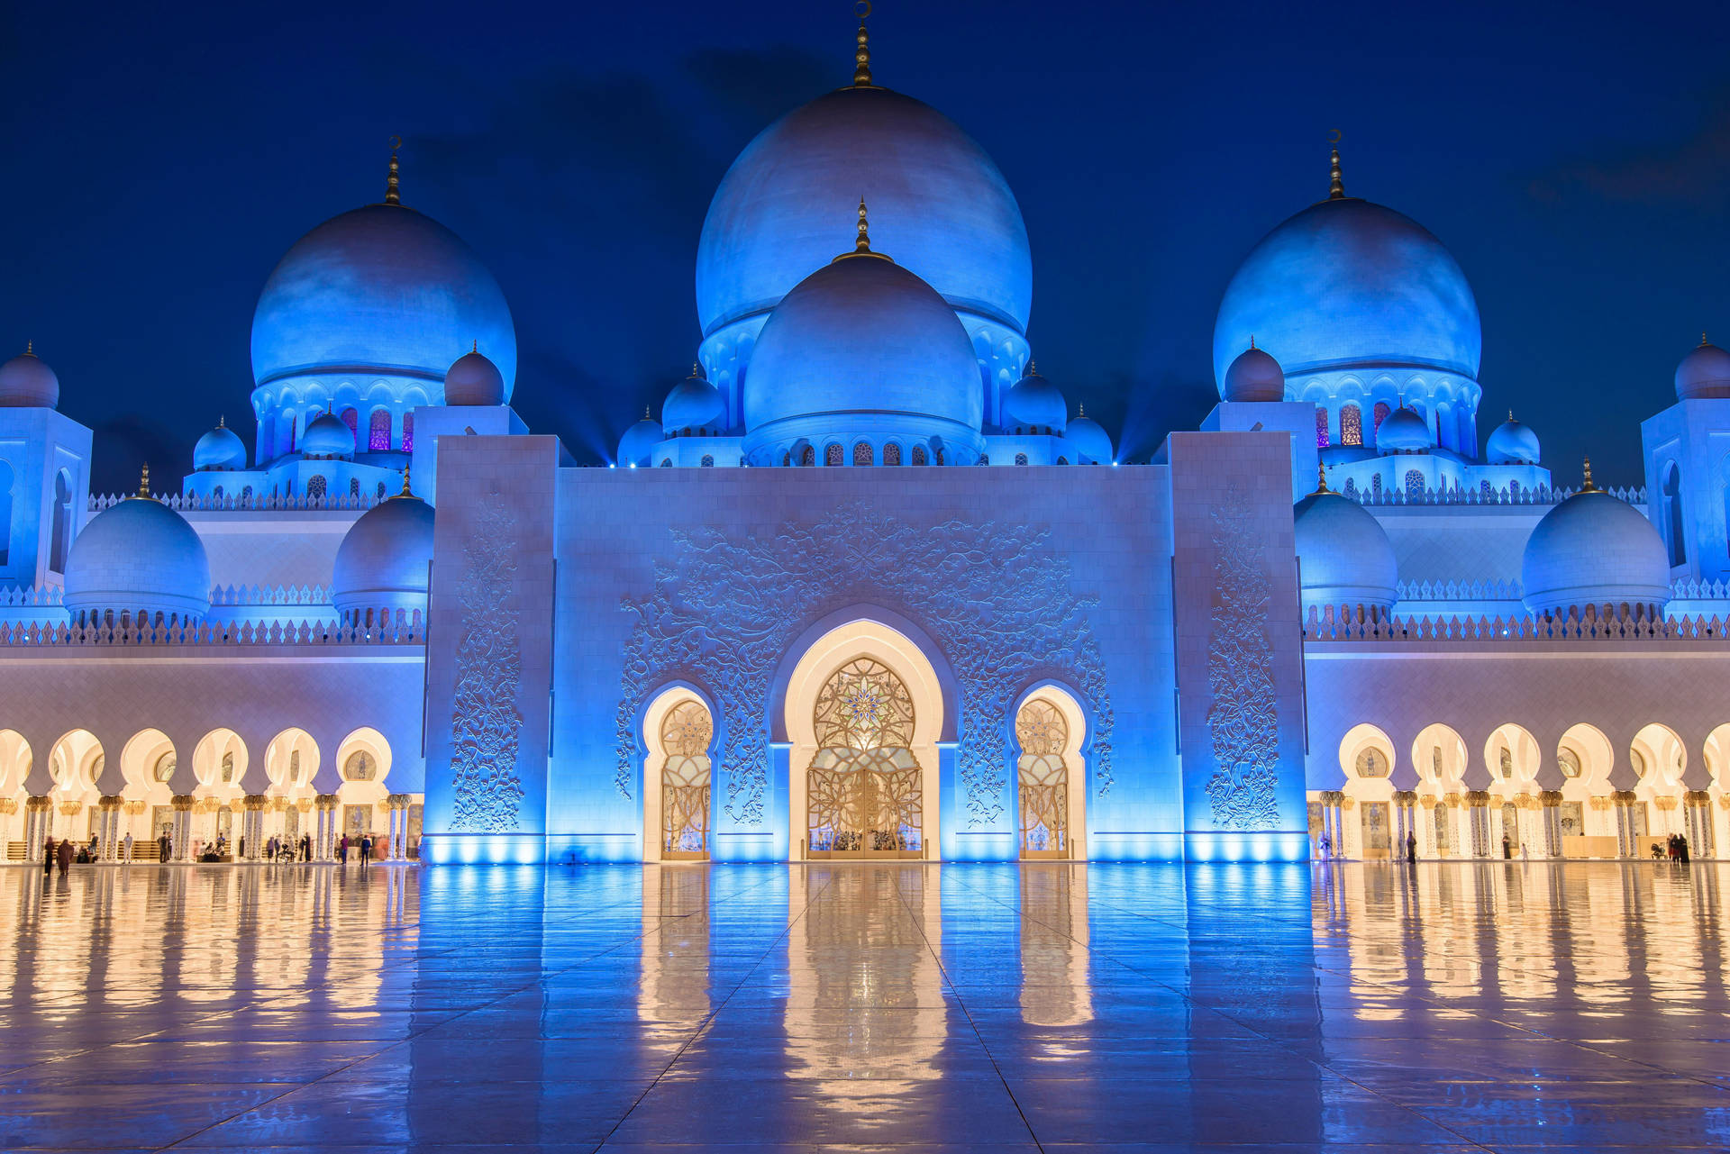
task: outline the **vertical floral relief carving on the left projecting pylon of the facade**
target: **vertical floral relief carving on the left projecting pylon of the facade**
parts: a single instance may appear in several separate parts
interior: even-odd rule
[[[481,503],[464,545],[457,581],[462,637],[457,642],[457,694],[452,704],[452,830],[507,834],[519,827],[522,779],[517,744],[522,715],[519,611],[514,590],[516,514],[498,495]]]

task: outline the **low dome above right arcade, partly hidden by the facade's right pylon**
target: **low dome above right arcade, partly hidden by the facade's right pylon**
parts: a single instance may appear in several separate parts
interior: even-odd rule
[[[1382,523],[1368,509],[1322,486],[1292,507],[1299,590],[1304,609],[1365,606],[1391,609],[1400,566]]]

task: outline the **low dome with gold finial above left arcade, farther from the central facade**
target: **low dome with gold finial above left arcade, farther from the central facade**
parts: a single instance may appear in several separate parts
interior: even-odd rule
[[[197,621],[211,607],[211,566],[204,542],[185,517],[151,497],[145,467],[138,495],[118,502],[85,526],[66,559],[66,607],[73,619],[144,614]]]

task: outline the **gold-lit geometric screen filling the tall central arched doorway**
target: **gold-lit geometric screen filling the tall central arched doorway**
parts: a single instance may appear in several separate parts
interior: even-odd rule
[[[924,772],[901,678],[868,657],[849,661],[823,683],[811,720],[806,856],[924,856]]]

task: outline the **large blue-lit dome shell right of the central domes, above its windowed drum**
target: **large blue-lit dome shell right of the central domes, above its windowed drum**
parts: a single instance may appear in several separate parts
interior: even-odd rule
[[[1441,240],[1356,197],[1311,204],[1249,253],[1214,322],[1216,381],[1251,334],[1287,379],[1417,367],[1476,381],[1483,351],[1477,301]]]

